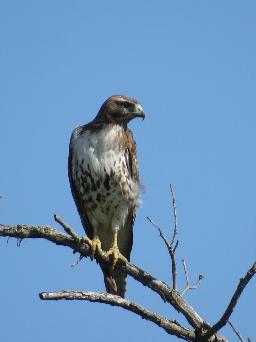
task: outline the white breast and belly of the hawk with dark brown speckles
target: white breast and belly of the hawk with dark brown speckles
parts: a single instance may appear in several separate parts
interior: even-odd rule
[[[124,225],[129,208],[138,206],[140,186],[131,179],[127,156],[120,146],[119,126],[73,133],[72,172],[80,195],[87,203],[91,222],[111,226]],[[86,178],[86,180],[85,180]]]

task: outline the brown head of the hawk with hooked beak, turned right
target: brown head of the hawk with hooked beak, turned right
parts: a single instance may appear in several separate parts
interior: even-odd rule
[[[145,118],[145,111],[137,100],[124,95],[112,95],[103,103],[94,120],[127,126],[136,117]]]

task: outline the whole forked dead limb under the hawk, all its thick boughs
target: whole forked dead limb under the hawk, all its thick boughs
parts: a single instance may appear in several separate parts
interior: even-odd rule
[[[25,238],[44,238],[51,242],[54,242],[56,245],[62,245],[70,247],[74,250],[74,252],[79,252],[81,256],[89,256],[90,255],[90,246],[83,243],[80,239],[80,237],[73,231],[71,227],[63,223],[63,221],[56,216],[58,222],[62,222],[61,225],[64,227],[65,230],[71,235],[67,235],[65,233],[62,233],[58,231],[58,229],[53,228],[51,226],[27,226],[27,225],[13,225],[13,226],[6,226],[0,224],[0,236],[8,236],[8,237],[16,237],[20,240],[23,240]],[[110,258],[109,258],[110,259]],[[98,260],[99,262],[105,262],[106,264],[110,265],[111,260],[107,259],[106,261]],[[147,309],[142,308],[136,303],[132,303],[127,300],[120,299],[118,296],[114,295],[108,295],[108,294],[93,294],[90,292],[89,297],[86,299],[87,295],[84,293],[88,292],[76,292],[76,291],[64,291],[65,292],[65,298],[61,298],[61,295],[63,294],[63,291],[60,297],[55,297],[56,293],[52,293],[49,296],[52,296],[51,298],[48,295],[42,294],[42,299],[75,299],[74,294],[75,293],[82,293],[81,299],[83,300],[90,300],[90,301],[98,301],[108,303],[110,305],[116,305],[116,306],[122,306],[126,308],[126,310],[129,310],[128,307],[131,307],[130,311],[133,311],[137,314],[139,314],[141,317],[144,317],[143,315],[146,315],[146,319],[149,319],[151,321],[153,320],[153,316],[157,317],[156,320],[158,320],[157,325],[163,327],[165,330],[169,329],[169,333],[172,334],[172,329],[177,328],[176,325],[179,327],[179,331],[181,334],[176,334],[176,336],[181,337],[182,339],[186,339],[188,341],[197,341],[204,340],[207,342],[227,342],[227,340],[217,334],[216,332],[226,324],[232,310],[234,310],[234,307],[238,301],[238,298],[240,297],[240,294],[242,293],[244,287],[247,285],[247,283],[250,281],[252,276],[256,273],[256,262],[253,265],[253,267],[247,272],[246,276],[240,280],[240,283],[238,285],[238,289],[235,292],[225,314],[223,315],[222,319],[214,325],[212,328],[210,327],[209,323],[204,320],[180,295],[180,293],[170,286],[164,284],[163,282],[157,280],[156,278],[152,277],[149,273],[145,272],[141,268],[139,268],[136,265],[133,265],[129,262],[123,264],[122,262],[118,261],[116,264],[116,267],[121,269],[122,271],[126,272],[127,274],[131,275],[133,278],[141,282],[143,285],[151,288],[153,291],[157,292],[161,298],[170,303],[177,311],[181,312],[189,322],[189,324],[195,329],[194,332],[191,329],[181,327],[176,321],[174,320],[168,320],[166,318],[163,318],[161,316],[157,316],[156,314],[147,311]],[[48,297],[47,297],[48,296]],[[93,300],[94,298],[94,300]],[[78,299],[78,298],[76,298]],[[126,307],[125,307],[126,306]],[[137,312],[136,312],[137,311]],[[228,316],[228,317],[227,317]],[[227,317],[227,318],[226,318]],[[223,324],[224,321],[224,324]],[[221,322],[221,324],[220,324]],[[220,327],[220,328],[219,328]],[[208,329],[208,330],[207,330]],[[207,330],[207,331],[206,331]],[[183,335],[182,335],[183,334]]]

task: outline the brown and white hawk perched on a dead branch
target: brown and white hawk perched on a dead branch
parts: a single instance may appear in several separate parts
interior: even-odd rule
[[[71,135],[68,172],[72,195],[91,246],[103,259],[112,256],[110,268],[101,265],[108,293],[124,298],[126,276],[114,269],[118,259],[130,261],[133,225],[140,204],[141,183],[137,146],[127,127],[145,118],[138,101],[110,96],[96,117]],[[102,249],[107,251],[104,255]]]

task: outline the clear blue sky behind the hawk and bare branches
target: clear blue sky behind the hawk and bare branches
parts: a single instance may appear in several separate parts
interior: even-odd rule
[[[199,288],[184,298],[211,324],[255,260],[256,2],[1,1],[0,222],[52,225],[82,236],[67,177],[72,130],[112,94],[136,98],[146,118],[138,145],[144,204],[131,261],[171,284],[174,186],[182,259]],[[46,240],[0,239],[3,341],[176,341],[139,316],[103,304],[41,301],[62,289],[105,291],[96,262]],[[231,321],[255,339],[256,278]],[[128,277],[127,299],[186,321]],[[100,322],[100,323],[99,323]],[[230,327],[221,331],[237,341]]]

